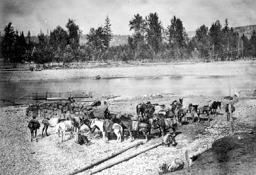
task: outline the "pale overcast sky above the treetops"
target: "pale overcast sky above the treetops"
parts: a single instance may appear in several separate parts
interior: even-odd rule
[[[104,26],[108,15],[113,34],[127,35],[129,21],[135,14],[143,18],[156,12],[163,27],[170,25],[175,15],[187,31],[202,24],[209,28],[217,19],[228,19],[231,27],[256,24],[256,0],[0,0],[0,31],[10,21],[14,29],[30,30],[36,35],[40,29],[54,30],[60,25],[66,30],[69,18],[76,20],[83,34],[90,28]]]

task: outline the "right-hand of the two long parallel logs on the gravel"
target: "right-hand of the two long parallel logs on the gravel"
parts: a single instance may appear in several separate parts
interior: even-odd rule
[[[115,160],[115,161],[113,161],[113,162],[111,162],[111,163],[107,163],[107,164],[102,165],[102,166],[100,166],[100,167],[98,167],[98,168],[91,169],[88,173],[89,173],[89,175],[95,174],[95,173],[97,173],[97,172],[99,172],[99,171],[101,171],[101,170],[103,170],[103,169],[107,169],[107,168],[109,168],[109,167],[112,167],[112,166],[115,165],[115,164],[118,164],[118,163],[121,163],[121,162],[123,162],[123,161],[126,161],[126,160],[128,160],[128,159],[130,159],[130,158],[132,158],[132,157],[135,157],[135,156],[137,156],[137,155],[139,155],[139,154],[141,154],[141,153],[143,153],[143,152],[145,152],[145,151],[148,151],[148,150],[153,149],[153,148],[155,148],[155,147],[157,147],[157,146],[160,146],[160,145],[162,145],[162,142],[160,142],[160,143],[158,143],[158,144],[156,144],[156,145],[151,145],[150,147],[144,148],[144,149],[141,150],[141,151],[137,151],[137,152],[135,152],[135,153],[133,153],[133,154],[130,154],[130,155],[125,156],[125,157],[122,157],[122,158],[120,158],[120,159],[118,159],[118,160]]]

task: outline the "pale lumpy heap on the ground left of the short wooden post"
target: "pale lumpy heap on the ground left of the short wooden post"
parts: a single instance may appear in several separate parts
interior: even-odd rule
[[[174,161],[172,161],[172,163],[169,163],[169,164],[163,163],[158,169],[158,173],[159,175],[162,175],[168,172],[174,172],[179,169],[182,169],[184,165],[185,163],[181,159],[176,158]]]

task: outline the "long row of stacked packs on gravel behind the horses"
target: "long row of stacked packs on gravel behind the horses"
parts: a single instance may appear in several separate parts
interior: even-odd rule
[[[91,105],[71,102],[30,103],[26,115],[33,118],[93,118],[94,110]]]

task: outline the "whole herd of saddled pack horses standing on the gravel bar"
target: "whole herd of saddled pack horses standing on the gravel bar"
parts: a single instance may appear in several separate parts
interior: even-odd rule
[[[81,119],[80,117],[75,117],[72,119],[65,119],[62,121],[59,118],[50,118],[49,123],[52,123],[50,127],[56,128],[56,133],[58,133],[58,136],[60,137],[60,133],[62,133],[62,141],[63,138],[65,138],[65,132],[70,132],[70,139],[74,138],[74,132],[76,133],[76,129],[78,129],[77,134],[75,135],[75,142],[80,145],[87,145],[88,139],[86,134],[81,133],[80,127],[81,125],[85,124],[90,129],[89,136],[92,136],[92,133],[94,133],[95,129],[101,131],[103,135],[103,140],[105,140],[105,133],[107,132],[108,139],[110,138],[110,132],[113,131],[117,136],[117,141],[122,141],[124,139],[124,130],[127,129],[130,133],[131,141],[133,141],[133,133],[142,132],[146,138],[146,141],[148,140],[148,135],[150,135],[151,129],[159,129],[160,135],[162,136],[162,142],[165,145],[170,145],[175,143],[175,135],[176,135],[176,127],[179,125],[181,127],[182,119],[184,118],[184,121],[187,121],[187,113],[190,113],[192,116],[192,122],[194,122],[195,114],[198,116],[198,121],[200,122],[200,115],[207,115],[208,121],[210,121],[210,114],[217,116],[217,109],[221,109],[221,102],[216,101],[210,101],[207,106],[202,106],[198,108],[199,105],[193,105],[192,103],[183,105],[183,98],[179,98],[179,100],[175,100],[170,105],[158,105],[158,104],[151,104],[150,102],[147,103],[140,103],[136,107],[137,111],[137,120],[132,120],[136,117],[133,115],[121,115],[121,113],[116,114],[110,114],[108,113],[107,118],[105,119],[99,119],[92,117],[90,119]],[[161,113],[161,111],[164,110],[158,110],[158,113],[156,114],[156,108],[157,109],[168,109],[168,112]],[[235,111],[235,107],[231,105],[232,113]],[[159,112],[160,111],[160,112]],[[228,104],[225,106],[225,113],[227,116],[227,121],[229,121],[230,118],[230,112],[228,109]],[[171,115],[170,115],[171,114]],[[177,120],[178,119],[178,120]],[[45,120],[45,119],[44,119]],[[49,123],[44,123],[44,128],[42,132],[42,137],[44,136],[44,129],[45,133],[47,134],[47,128],[49,127]],[[31,130],[31,141],[33,138],[36,138],[37,140],[37,129],[40,128],[40,123],[32,119],[29,122],[28,127]],[[173,134],[165,133],[169,130],[173,130]],[[168,135],[168,137],[167,137]]]

